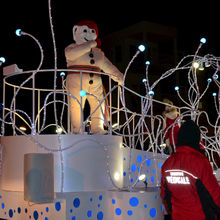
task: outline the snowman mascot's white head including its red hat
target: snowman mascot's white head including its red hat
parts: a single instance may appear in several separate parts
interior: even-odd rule
[[[81,21],[73,27],[73,39],[78,45],[87,41],[98,40],[97,38],[98,27],[94,21]],[[99,44],[99,42],[97,43]]]

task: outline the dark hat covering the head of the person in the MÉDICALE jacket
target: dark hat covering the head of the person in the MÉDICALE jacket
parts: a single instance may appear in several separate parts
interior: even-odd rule
[[[197,124],[192,120],[184,122],[177,134],[177,147],[178,146],[189,146],[195,150],[200,150],[200,130]]]

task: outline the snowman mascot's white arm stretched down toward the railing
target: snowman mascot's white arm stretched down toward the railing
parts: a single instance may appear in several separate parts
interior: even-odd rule
[[[123,74],[105,56],[102,70],[107,73],[115,82],[118,82],[119,84],[123,83]]]

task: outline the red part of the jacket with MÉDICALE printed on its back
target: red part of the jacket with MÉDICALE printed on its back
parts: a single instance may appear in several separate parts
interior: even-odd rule
[[[177,147],[176,152],[163,164],[161,174],[161,196],[165,203],[170,198],[173,220],[206,219],[198,182],[208,190],[219,208],[220,186],[208,159],[197,150],[189,146]],[[170,207],[170,204],[167,205]]]

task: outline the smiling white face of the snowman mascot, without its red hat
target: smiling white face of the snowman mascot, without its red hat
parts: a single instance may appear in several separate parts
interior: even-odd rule
[[[76,44],[82,44],[87,41],[96,40],[97,34],[95,29],[91,29],[86,25],[73,27],[73,39]]]

